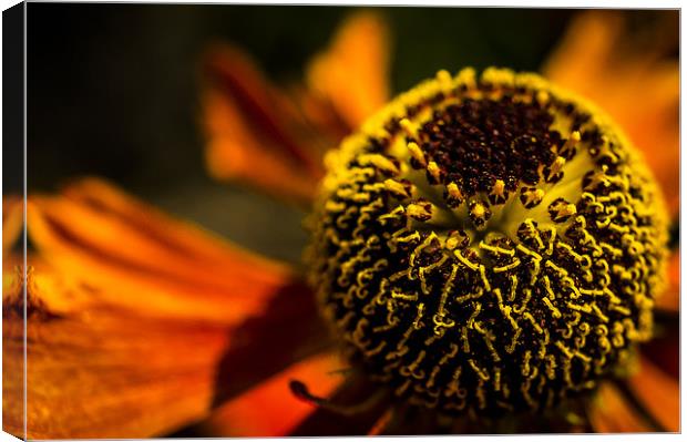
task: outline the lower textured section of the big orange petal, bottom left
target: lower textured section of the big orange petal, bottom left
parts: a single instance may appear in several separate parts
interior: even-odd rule
[[[57,271],[41,257],[30,257],[29,261],[29,438],[164,435],[203,419],[217,404],[218,386],[229,384],[232,394],[239,394],[264,379],[258,377],[268,376],[275,362],[271,354],[308,354],[307,348],[297,347],[310,340],[296,330],[301,325],[308,330],[312,319],[303,298],[309,292],[279,290],[285,299],[273,297],[270,300],[276,302],[269,302],[267,310],[260,312],[265,317],[249,318],[238,327],[188,317],[165,318],[157,311],[132,310],[93,299],[76,309],[51,310],[44,299],[88,299],[98,295],[98,286]],[[11,302],[21,298],[4,296],[3,291],[3,400],[9,407],[3,409],[3,419],[6,429],[20,435],[23,315],[21,305]],[[294,307],[293,315],[281,310],[283,319],[289,323],[279,322],[279,318],[277,323],[263,321],[270,317],[273,306],[285,305]],[[236,307],[240,309],[239,304]],[[274,316],[280,317],[278,313]],[[300,338],[297,342],[283,342],[276,336],[266,343],[259,339],[265,335],[258,330],[260,325],[270,328],[267,332]],[[275,325],[278,328],[271,327]],[[287,326],[289,332],[285,333]],[[247,333],[246,327],[255,329],[254,333]],[[318,331],[311,335],[317,339],[322,336]],[[265,357],[269,345],[275,348]],[[237,374],[249,371],[250,377],[225,372],[224,362],[234,353],[252,356],[232,359],[238,366],[234,370]]]

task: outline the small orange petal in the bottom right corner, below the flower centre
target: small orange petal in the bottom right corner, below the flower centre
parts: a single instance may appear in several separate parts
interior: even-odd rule
[[[678,348],[675,348],[675,352]],[[670,432],[680,428],[680,393],[676,378],[670,377],[647,358],[640,358],[637,374],[629,379],[629,387],[648,412]]]

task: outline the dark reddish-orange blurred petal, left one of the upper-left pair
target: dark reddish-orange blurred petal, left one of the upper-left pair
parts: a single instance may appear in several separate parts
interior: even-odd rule
[[[209,51],[205,70],[203,120],[211,174],[309,201],[322,174],[322,148],[294,104],[237,48]]]

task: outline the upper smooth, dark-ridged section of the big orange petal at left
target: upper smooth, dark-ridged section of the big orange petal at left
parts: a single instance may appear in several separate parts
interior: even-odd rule
[[[61,196],[30,198],[28,227],[32,244],[62,275],[64,290],[52,290],[55,281],[38,273],[33,282],[60,312],[104,302],[165,318],[233,323],[260,311],[294,279],[284,265],[95,178]]]

